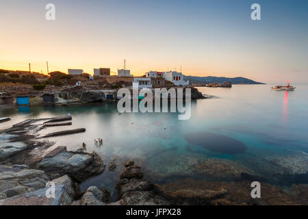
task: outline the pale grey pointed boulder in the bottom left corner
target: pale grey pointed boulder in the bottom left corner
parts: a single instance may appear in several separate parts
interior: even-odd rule
[[[63,176],[51,181],[51,187],[42,188],[11,198],[0,200],[0,205],[70,205],[80,189],[70,177]],[[53,193],[54,191],[54,193]]]

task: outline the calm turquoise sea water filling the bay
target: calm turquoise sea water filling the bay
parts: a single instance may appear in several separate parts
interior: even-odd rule
[[[272,159],[285,159],[286,168],[307,168],[308,86],[298,85],[293,92],[273,91],[270,85],[235,85],[232,88],[198,88],[216,96],[192,102],[190,120],[178,120],[171,113],[119,114],[116,103],[88,105],[34,106],[0,110],[0,117],[12,120],[10,127],[26,118],[72,114],[71,127],[49,127],[40,134],[70,128],[86,128],[85,133],[50,138],[55,146],[96,151],[106,164],[112,156],[140,160],[146,177],[163,183],[185,177],[201,177],[194,171],[196,161],[216,157],[238,162],[269,183],[307,183],[307,175],[274,176],[278,171]],[[94,138],[103,138],[95,146]],[[55,147],[53,146],[53,147]],[[292,166],[293,165],[293,166]],[[121,170],[123,166],[118,169]],[[304,171],[305,172],[305,171]],[[291,174],[292,175],[292,174]],[[114,190],[118,172],[105,170],[81,184]]]

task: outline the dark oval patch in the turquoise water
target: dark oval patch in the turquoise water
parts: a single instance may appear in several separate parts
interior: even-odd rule
[[[210,151],[227,153],[229,155],[244,153],[246,150],[246,145],[234,138],[209,132],[188,133],[185,135],[185,139],[190,142],[190,144],[202,146]]]

